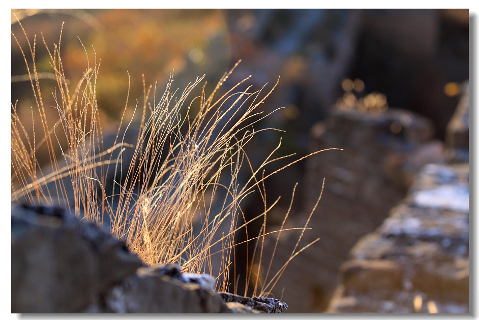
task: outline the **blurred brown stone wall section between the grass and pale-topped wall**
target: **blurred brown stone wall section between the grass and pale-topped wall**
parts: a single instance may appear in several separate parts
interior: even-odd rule
[[[305,232],[302,244],[320,240],[290,262],[273,291],[288,301],[291,312],[324,311],[351,247],[404,198],[412,179],[404,178],[432,160],[444,161],[442,144],[431,140],[433,135],[426,118],[392,108],[384,112],[337,108],[313,126],[311,151],[344,150],[325,151],[306,162],[305,211],[295,225],[304,225],[325,178],[322,198],[309,221],[312,230]],[[427,152],[421,152],[424,149]],[[278,268],[289,258],[298,236],[298,232],[282,235],[281,251],[275,253]],[[275,242],[268,245],[266,256]]]

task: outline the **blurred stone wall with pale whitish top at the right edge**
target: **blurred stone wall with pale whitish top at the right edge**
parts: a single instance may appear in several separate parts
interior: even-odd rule
[[[326,312],[469,312],[468,169],[424,167],[408,196],[351,249]]]

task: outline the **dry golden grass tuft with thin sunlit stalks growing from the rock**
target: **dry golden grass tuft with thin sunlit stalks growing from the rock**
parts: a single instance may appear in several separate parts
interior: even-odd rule
[[[301,230],[301,235],[290,259],[277,273],[270,274],[274,254],[263,257],[264,239],[276,237],[276,251],[281,232],[291,230],[284,229],[290,210],[277,231],[266,232],[267,213],[276,202],[266,203],[263,182],[305,158],[266,174],[265,167],[279,159],[274,153],[281,141],[258,168],[253,168],[245,152],[258,132],[255,124],[269,115],[258,106],[276,85],[257,91],[251,86],[240,90],[246,78],[220,94],[233,68],[210,93],[205,92],[202,77],[182,92],[173,90],[171,77],[157,97],[156,85],[147,86],[143,80],[144,103],[132,103],[127,91],[115,139],[106,145],[96,101],[96,80],[100,76],[97,57],[92,62],[85,50],[85,72],[72,88],[67,84],[60,55],[61,38],[50,49],[42,37],[56,80],[54,90],[45,93],[35,60],[37,38],[28,40],[23,30],[28,47],[21,48],[12,35],[22,51],[32,85],[34,105],[30,111],[35,129],[25,129],[17,104],[12,104],[12,202],[73,208],[88,221],[108,224],[111,234],[126,240],[146,264],[178,262],[188,272],[216,270],[217,289],[235,291],[235,284],[227,282],[229,273],[235,272],[234,249],[238,243],[234,234],[251,222],[246,221],[241,203],[249,194],[260,193],[264,207],[258,208],[255,219],[263,221],[262,228],[246,240],[255,243],[255,260],[269,266],[262,282],[258,277],[247,278],[254,283],[258,296],[270,294],[289,261],[319,240],[300,248],[308,222],[293,228]],[[198,88],[201,94],[192,98]],[[53,106],[45,105],[45,94],[53,97]],[[153,103],[148,103],[152,98]],[[56,110],[55,116],[47,112],[51,108]],[[136,143],[125,139],[132,132]],[[40,150],[48,154],[51,168],[41,166],[37,158]],[[126,157],[127,153],[131,156]],[[240,179],[240,172],[249,172],[248,178]]]

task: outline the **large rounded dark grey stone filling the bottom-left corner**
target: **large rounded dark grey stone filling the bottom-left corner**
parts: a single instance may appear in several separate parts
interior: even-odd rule
[[[81,312],[141,266],[125,243],[50,207],[12,209],[12,312]]]

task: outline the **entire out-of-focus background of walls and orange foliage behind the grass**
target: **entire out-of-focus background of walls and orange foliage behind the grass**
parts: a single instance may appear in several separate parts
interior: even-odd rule
[[[456,180],[448,180],[452,185],[464,179],[468,183],[465,169],[457,169],[458,164],[468,163],[467,9],[12,9],[12,32],[25,50],[17,18],[29,40],[37,35],[36,61],[44,92],[50,92],[55,82],[41,39],[49,46],[58,43],[63,21],[61,54],[70,84],[76,84],[85,71],[85,49],[90,65],[93,59],[101,60],[97,100],[105,127],[114,127],[125,106],[127,71],[130,104],[138,99],[140,105],[142,75],[147,85],[158,81],[157,93],[162,93],[173,70],[173,88],[182,91],[205,74],[206,90],[211,90],[239,59],[242,62],[225,89],[249,75],[255,89],[265,83],[271,88],[281,77],[261,110],[283,109],[262,125],[285,132],[257,135],[247,150],[253,165],[259,166],[280,137],[277,155],[294,152],[299,158],[323,148],[344,149],[319,153],[266,181],[268,203],[281,196],[268,217],[268,228],[274,229],[289,206],[294,183],[299,182],[291,226],[304,225],[325,178],[322,199],[308,225],[313,230],[305,233],[301,243],[321,239],[292,260],[272,292],[289,305],[289,312],[434,311],[426,309],[427,299],[438,312],[467,312],[468,228],[448,233],[437,230],[450,226],[451,221],[463,221],[468,207],[433,206],[437,218],[431,228],[436,236],[427,236],[432,230],[427,228],[413,236],[407,226],[397,234],[381,229],[396,206],[418,207],[410,200],[413,191],[434,189],[432,178],[421,176],[426,165],[445,166],[440,168],[453,172],[450,176]],[[29,108],[34,105],[31,84],[25,81],[27,71],[13,37],[11,47],[12,104],[18,101],[20,117],[29,123]],[[45,95],[44,99],[50,99]],[[452,125],[455,114],[460,120]],[[278,162],[268,170],[273,172],[286,163]],[[437,170],[433,175],[444,174]],[[418,184],[417,177],[430,184]],[[453,191],[448,195],[454,196]],[[248,218],[262,212],[257,196],[243,205]],[[451,215],[454,210],[458,216]],[[426,217],[434,215],[427,212]],[[449,220],[440,225],[437,221],[444,212]],[[420,226],[428,223],[421,220]],[[259,227],[252,224],[250,234]],[[385,250],[384,254],[372,257],[362,251],[360,257],[357,250],[351,251],[358,240],[371,238],[371,234],[377,246],[368,244],[370,250]],[[282,235],[273,270],[288,260],[297,236],[294,232]],[[384,249],[384,243],[395,236],[398,242]],[[444,239],[449,245],[444,245]],[[274,242],[268,245],[266,251],[272,252]],[[411,245],[423,251],[417,253]],[[428,251],[430,247],[436,249]],[[252,261],[246,248],[237,250],[237,257],[244,257],[240,261],[248,261],[264,281],[265,266]],[[438,256],[439,260],[434,258]],[[431,268],[448,271],[427,282],[404,257],[416,259],[417,264],[433,261]],[[429,274],[428,270],[423,271]],[[416,278],[426,284],[415,282]],[[377,283],[368,286],[364,282]],[[363,301],[364,297],[374,301]],[[417,297],[425,301],[424,307],[417,307]]]

